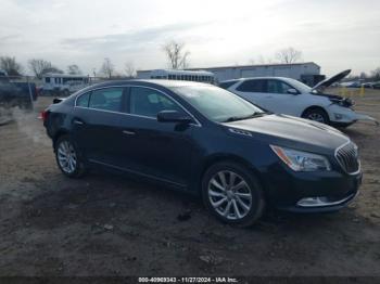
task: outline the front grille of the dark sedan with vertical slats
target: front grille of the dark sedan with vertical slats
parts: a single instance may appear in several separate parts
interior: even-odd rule
[[[353,142],[338,149],[335,157],[345,172],[354,173],[359,170],[357,146]]]

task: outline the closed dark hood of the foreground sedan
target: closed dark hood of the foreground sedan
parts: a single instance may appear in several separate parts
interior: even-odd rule
[[[321,152],[331,153],[350,140],[327,125],[287,115],[265,115],[224,125],[248,131],[253,138],[270,144],[309,152],[315,152],[318,147]]]

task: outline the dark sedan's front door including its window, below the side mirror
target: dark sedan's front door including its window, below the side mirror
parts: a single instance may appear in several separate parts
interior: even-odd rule
[[[128,115],[122,117],[124,168],[185,185],[190,172],[194,125],[159,122],[161,111],[185,112],[170,96],[145,88],[130,87]]]

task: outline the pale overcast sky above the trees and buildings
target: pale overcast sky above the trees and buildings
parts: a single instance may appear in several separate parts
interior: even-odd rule
[[[294,47],[332,75],[380,66],[379,0],[0,0],[0,55],[40,57],[87,74],[167,67],[162,46],[186,43],[191,67],[249,64]]]

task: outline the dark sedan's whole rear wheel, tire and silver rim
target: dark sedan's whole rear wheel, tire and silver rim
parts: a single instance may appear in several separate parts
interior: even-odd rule
[[[56,140],[54,153],[56,164],[66,177],[80,178],[86,173],[83,155],[69,135],[62,135]]]

